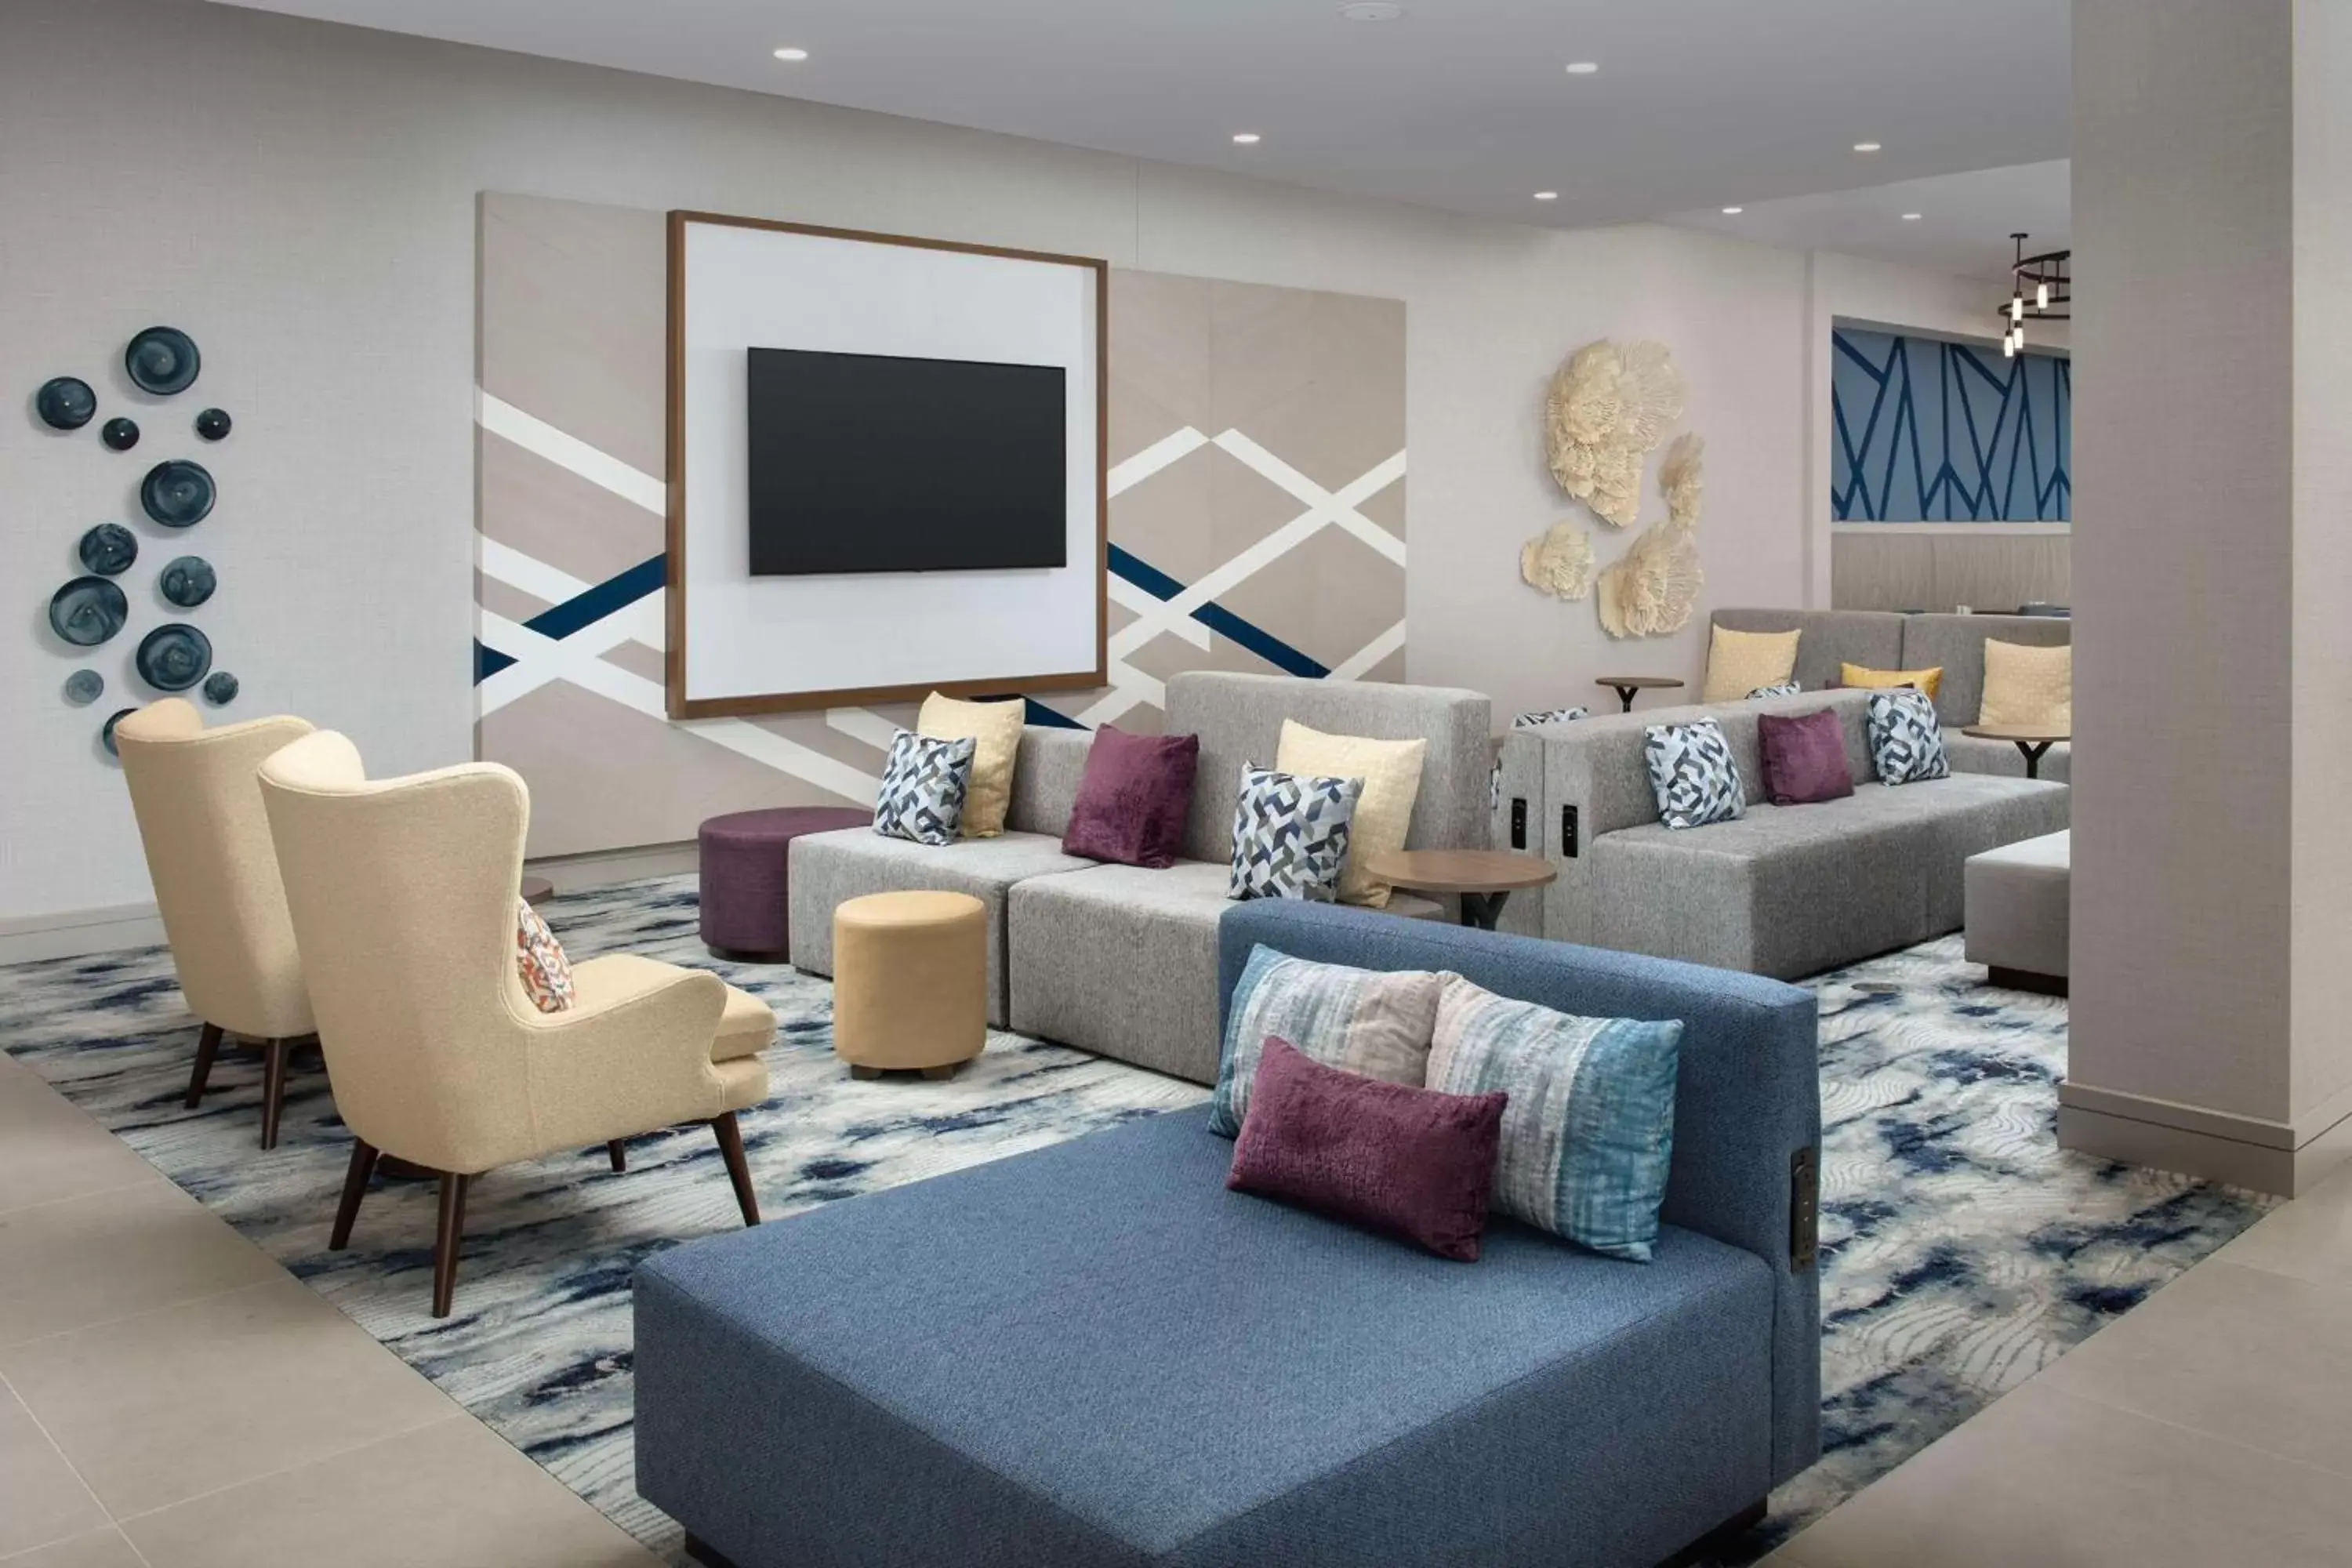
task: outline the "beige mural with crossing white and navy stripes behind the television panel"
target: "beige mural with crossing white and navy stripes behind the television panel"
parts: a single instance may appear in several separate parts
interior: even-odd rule
[[[666,268],[661,212],[480,197],[475,755],[532,856],[870,806],[915,719],[668,719]],[[1105,456],[1110,684],[1030,722],[1157,731],[1178,670],[1404,679],[1399,301],[1112,268]]]

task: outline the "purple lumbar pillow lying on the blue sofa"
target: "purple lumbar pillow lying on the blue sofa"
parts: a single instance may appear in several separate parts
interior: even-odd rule
[[[1225,1185],[1475,1262],[1505,1100],[1367,1079],[1268,1034]]]

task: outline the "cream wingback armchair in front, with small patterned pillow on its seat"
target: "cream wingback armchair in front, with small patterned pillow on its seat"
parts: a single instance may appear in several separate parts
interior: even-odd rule
[[[767,1098],[776,1016],[635,954],[576,964],[574,1004],[541,1013],[515,973],[532,802],[513,769],[369,780],[350,741],[320,731],[261,764],[261,797],[355,1138],[329,1248],[350,1241],[379,1152],[437,1171],[447,1316],[473,1175],[684,1121],[710,1124],[743,1222],[760,1222],[736,1112]]]

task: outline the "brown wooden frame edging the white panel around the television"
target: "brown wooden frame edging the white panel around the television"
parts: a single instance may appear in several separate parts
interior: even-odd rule
[[[668,712],[673,719],[717,719],[762,712],[797,712],[809,708],[849,708],[866,703],[917,701],[931,691],[946,696],[1018,696],[1030,691],[1077,691],[1108,682],[1110,670],[1110,263],[1098,256],[1058,256],[957,240],[884,235],[858,228],[823,228],[781,223],[774,219],[739,219],[715,212],[677,209],[668,214],[668,651],[663,658]],[[762,696],[687,696],[687,228],[691,223],[760,228],[821,240],[856,240],[868,244],[903,244],[929,252],[962,252],[1007,261],[1089,268],[1094,273],[1094,668],[1047,675],[957,677],[891,686],[847,686],[833,691],[776,691]]]

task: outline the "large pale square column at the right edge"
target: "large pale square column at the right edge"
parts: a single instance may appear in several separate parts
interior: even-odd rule
[[[2067,1147],[2352,1152],[2352,5],[2074,0]]]

